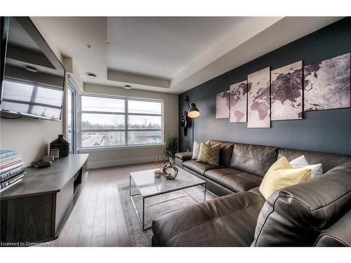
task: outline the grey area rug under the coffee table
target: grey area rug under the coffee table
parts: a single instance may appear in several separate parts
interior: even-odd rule
[[[152,229],[145,229],[143,231],[140,227],[133,203],[131,203],[131,199],[129,197],[129,178],[118,180],[117,187],[132,246],[151,246]],[[137,189],[132,187],[132,193],[135,192],[137,192]],[[152,220],[155,220],[162,215],[166,215],[172,211],[184,208],[187,205],[194,205],[196,202],[186,193],[190,194],[190,196],[197,201],[204,201],[204,190],[201,187],[191,187],[185,190],[146,198],[145,227],[150,227]],[[215,196],[213,196],[211,193],[206,193],[206,200],[211,200],[213,198],[215,198]],[[143,204],[142,198],[140,198],[140,196],[133,196],[133,200],[137,210],[139,211],[139,215],[141,215]]]

